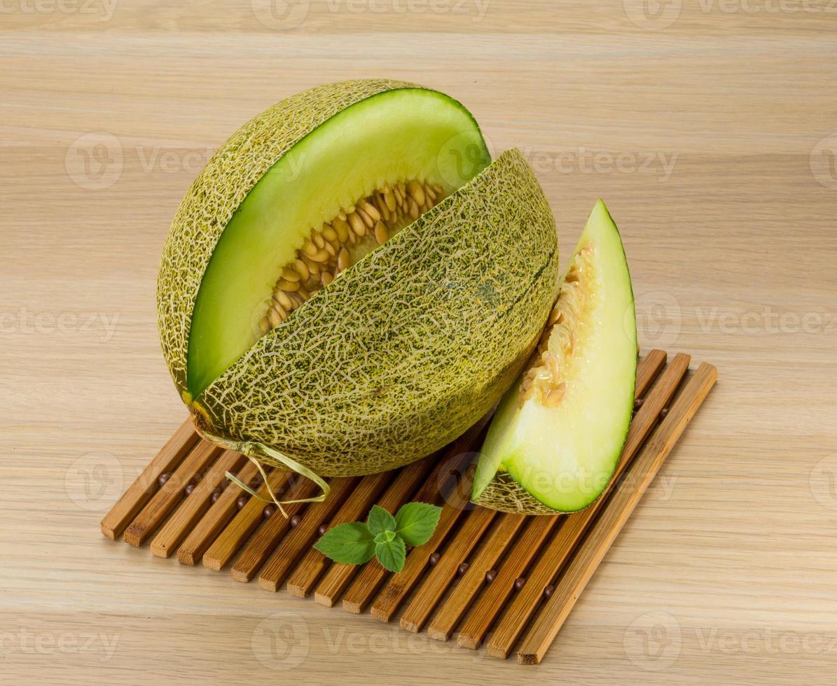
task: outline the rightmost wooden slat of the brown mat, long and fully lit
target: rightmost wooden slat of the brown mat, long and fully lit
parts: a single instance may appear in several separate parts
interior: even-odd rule
[[[552,597],[538,615],[517,652],[522,664],[540,663],[552,641],[561,630],[563,622],[572,611],[578,596],[598,568],[610,546],[619,535],[625,522],[648,489],[655,474],[671,452],[677,439],[694,417],[711,387],[715,384],[717,370],[714,366],[701,364],[695,376],[677,397],[670,412],[655,430],[648,443],[639,452],[631,465],[630,489],[616,489],[603,509],[589,535],[584,540],[578,555],[562,576]]]

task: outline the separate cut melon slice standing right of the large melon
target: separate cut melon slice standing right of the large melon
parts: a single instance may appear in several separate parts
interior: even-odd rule
[[[601,200],[550,321],[558,312],[531,371],[506,393],[485,438],[472,498],[486,507],[582,509],[602,493],[619,460],[634,404],[636,322],[619,231]],[[545,355],[553,366],[543,364]]]

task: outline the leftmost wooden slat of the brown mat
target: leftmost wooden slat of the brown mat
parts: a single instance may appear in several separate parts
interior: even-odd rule
[[[192,420],[187,418],[102,519],[102,535],[116,540],[156,492],[157,479],[162,474],[174,471],[195,443],[198,443],[198,434],[195,433]]]

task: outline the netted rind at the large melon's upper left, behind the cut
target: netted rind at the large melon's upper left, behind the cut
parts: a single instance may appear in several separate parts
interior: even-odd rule
[[[362,79],[317,86],[249,120],[221,146],[183,197],[169,229],[157,276],[163,356],[185,392],[189,329],[198,289],[223,229],[244,197],[285,152],[341,110],[372,95],[422,86]]]

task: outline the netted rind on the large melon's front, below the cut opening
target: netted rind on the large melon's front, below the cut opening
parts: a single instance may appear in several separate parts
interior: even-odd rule
[[[329,476],[424,457],[520,373],[557,268],[547,199],[506,151],[260,339],[203,393],[203,421]]]

